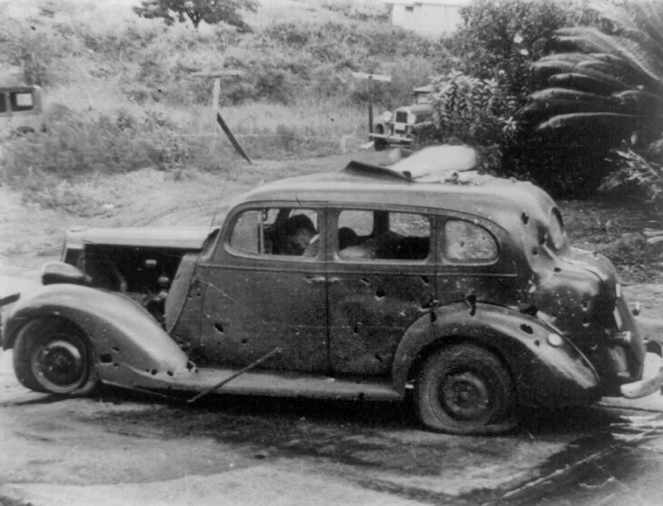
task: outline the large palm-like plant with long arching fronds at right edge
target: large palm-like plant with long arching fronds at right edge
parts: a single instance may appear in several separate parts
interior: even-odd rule
[[[600,14],[602,29],[558,30],[560,50],[533,65],[542,89],[528,97],[520,118],[548,139],[573,138],[600,158],[612,152],[604,186],[663,188],[655,163],[663,152],[663,3],[605,3]],[[659,190],[646,193],[659,199]]]

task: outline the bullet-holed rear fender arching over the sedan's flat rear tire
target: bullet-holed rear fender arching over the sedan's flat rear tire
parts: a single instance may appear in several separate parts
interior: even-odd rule
[[[392,369],[404,388],[428,352],[470,341],[495,352],[511,371],[520,405],[574,405],[599,398],[599,377],[573,344],[543,321],[497,305],[452,303],[416,321],[398,344]]]

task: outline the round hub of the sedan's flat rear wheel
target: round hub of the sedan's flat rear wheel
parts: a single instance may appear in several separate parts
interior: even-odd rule
[[[456,419],[478,419],[490,409],[488,388],[471,372],[447,376],[441,397],[442,405]]]

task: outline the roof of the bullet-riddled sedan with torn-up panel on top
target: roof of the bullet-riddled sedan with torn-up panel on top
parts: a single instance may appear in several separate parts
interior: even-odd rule
[[[457,148],[459,146],[444,146]],[[469,148],[466,148],[469,149]],[[449,150],[422,150],[392,166],[350,162],[340,172],[288,177],[265,183],[243,196],[245,202],[280,201],[333,203],[348,207],[398,206],[424,208],[426,212],[446,209],[472,213],[499,221],[501,215],[518,217],[525,212],[539,215],[547,223],[554,201],[542,189],[524,181],[481,176],[468,169],[467,152],[456,150],[441,168],[422,170],[422,160],[432,165],[436,155]],[[448,160],[438,156],[439,160]],[[428,159],[428,162],[426,162]],[[408,168],[410,170],[408,170]],[[473,177],[463,179],[465,174]],[[414,176],[413,176],[414,174]],[[438,174],[438,177],[436,177]]]

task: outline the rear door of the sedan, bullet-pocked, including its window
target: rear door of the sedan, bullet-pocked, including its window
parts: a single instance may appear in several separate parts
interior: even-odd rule
[[[329,217],[331,370],[386,376],[405,330],[434,303],[434,215],[374,207]]]

